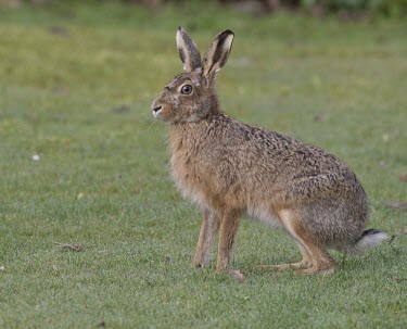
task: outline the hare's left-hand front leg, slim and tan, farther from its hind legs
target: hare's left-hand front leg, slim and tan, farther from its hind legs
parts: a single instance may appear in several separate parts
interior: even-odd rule
[[[195,258],[193,265],[196,267],[205,267],[209,261],[209,254],[214,238],[219,229],[220,219],[209,210],[204,211],[200,238],[195,251]]]

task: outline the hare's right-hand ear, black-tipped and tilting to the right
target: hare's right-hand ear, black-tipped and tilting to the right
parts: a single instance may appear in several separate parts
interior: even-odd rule
[[[233,37],[234,34],[230,29],[224,30],[215,37],[202,63],[203,74],[206,78],[214,78],[225,66],[232,49]]]

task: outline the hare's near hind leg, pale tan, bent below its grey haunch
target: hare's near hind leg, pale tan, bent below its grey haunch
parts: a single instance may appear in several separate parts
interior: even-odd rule
[[[284,223],[287,230],[291,233],[295,241],[301,244],[300,251],[303,254],[302,262],[304,262],[302,265],[306,265],[307,268],[298,269],[298,274],[328,274],[335,269],[335,262],[331,255],[323,245],[318,243],[318,241],[315,241],[315,239],[309,236],[308,231],[304,227],[302,218],[296,212],[291,210],[281,211],[280,218]],[[305,252],[307,253],[306,257],[304,257]]]

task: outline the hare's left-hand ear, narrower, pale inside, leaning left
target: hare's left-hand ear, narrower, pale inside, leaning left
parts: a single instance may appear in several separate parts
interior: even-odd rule
[[[191,72],[201,67],[200,51],[198,50],[195,42],[192,41],[191,37],[181,26],[178,27],[176,40],[178,53],[183,63],[183,69],[186,72]]]

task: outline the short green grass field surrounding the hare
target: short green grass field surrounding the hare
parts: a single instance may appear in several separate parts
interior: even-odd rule
[[[407,201],[406,23],[56,3],[0,8],[0,328],[407,326],[407,216],[387,206]],[[300,253],[245,219],[244,283],[192,267],[201,214],[150,110],[181,71],[178,25],[202,51],[236,33],[222,109],[343,159],[391,245],[334,253],[331,276],[269,275],[255,265]]]

